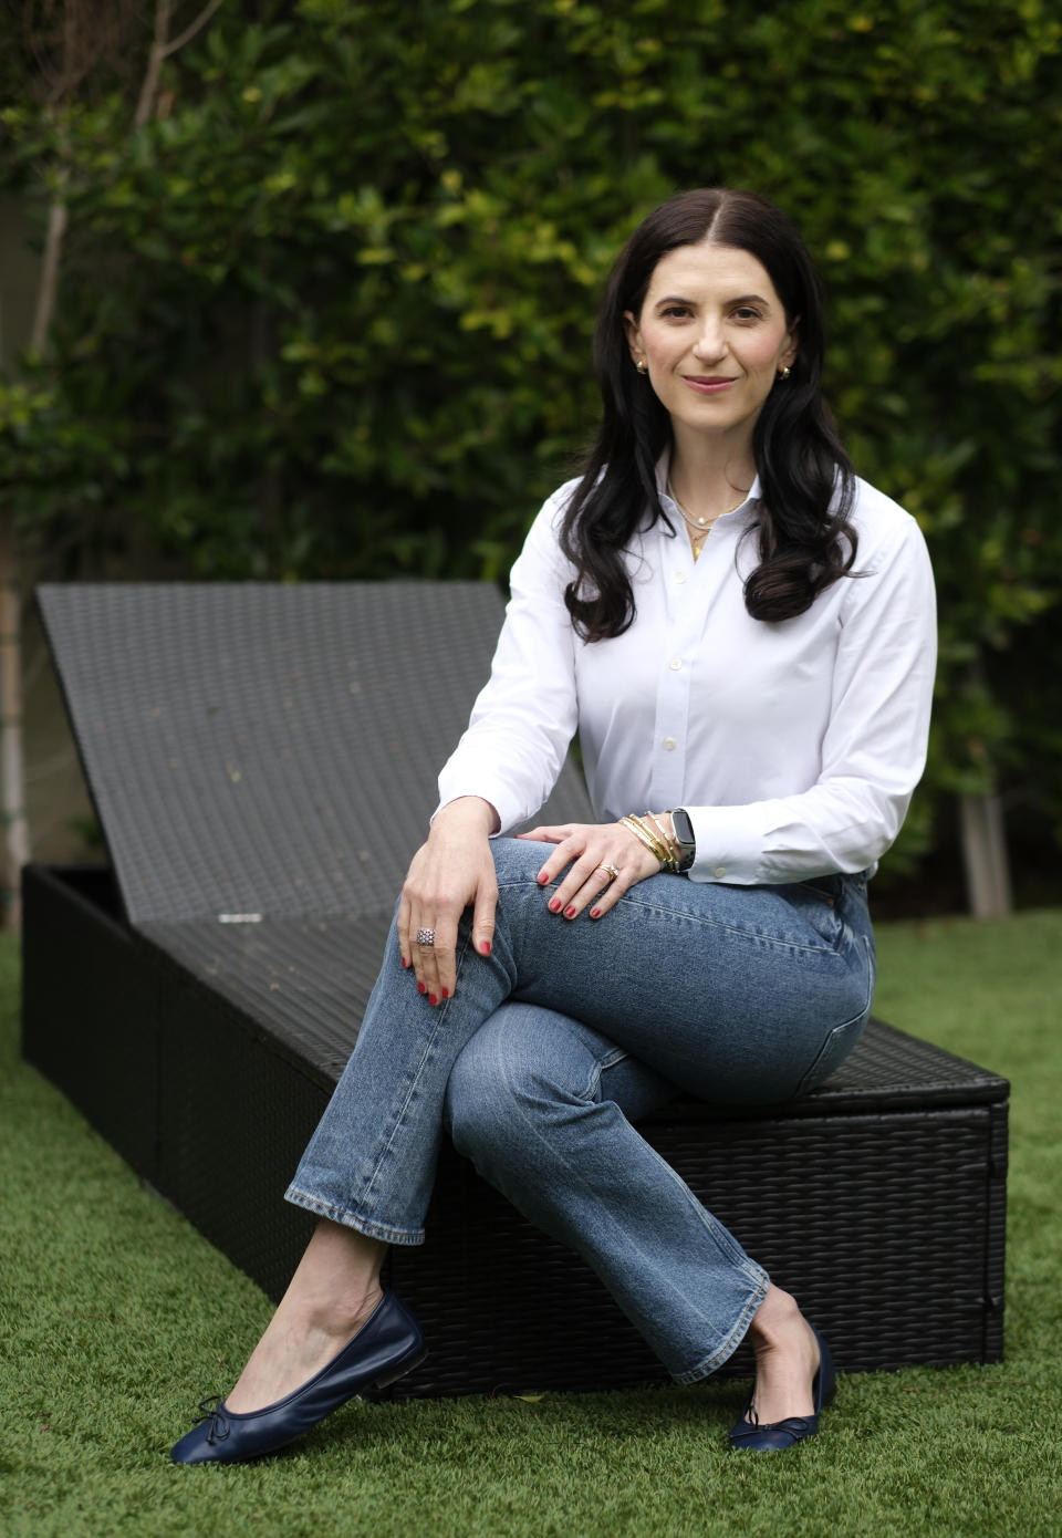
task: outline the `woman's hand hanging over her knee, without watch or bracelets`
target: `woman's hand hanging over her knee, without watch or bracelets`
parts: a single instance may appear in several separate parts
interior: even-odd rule
[[[427,843],[413,855],[398,904],[403,966],[417,972],[417,986],[432,1004],[456,986],[458,921],[472,906],[472,943],[490,955],[498,880],[489,835],[498,814],[489,801],[466,795],[435,815]],[[417,943],[418,929],[435,932],[433,946]]]

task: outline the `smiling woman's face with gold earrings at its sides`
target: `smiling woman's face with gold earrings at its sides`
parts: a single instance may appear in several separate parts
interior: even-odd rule
[[[649,365],[676,434],[752,443],[779,371],[796,357],[796,321],[756,257],[709,240],[676,246],[656,263],[641,314],[626,311],[624,321],[630,355]]]

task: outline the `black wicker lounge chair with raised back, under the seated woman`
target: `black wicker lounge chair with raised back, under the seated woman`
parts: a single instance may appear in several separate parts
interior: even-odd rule
[[[26,1057],[278,1295],[310,1226],[283,1190],[355,1038],[499,598],[123,584],[40,603],[112,869],[26,872]],[[589,815],[570,767],[549,815]],[[801,1101],[722,1117],[679,1100],[644,1130],[841,1367],[994,1361],[1007,1092],[874,1023]],[[389,1264],[432,1346],[403,1395],[662,1378],[596,1278],[452,1150],[427,1244]]]

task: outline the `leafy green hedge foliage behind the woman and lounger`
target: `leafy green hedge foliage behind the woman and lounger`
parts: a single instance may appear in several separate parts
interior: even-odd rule
[[[69,209],[48,348],[0,380],[38,568],[503,578],[592,431],[619,243],[676,189],[752,186],[821,266],[856,466],[938,569],[893,867],[996,786],[1054,860],[1056,5],[223,0],[141,126],[151,15],[112,9],[78,72],[61,0],[14,5],[0,63],[0,188]]]

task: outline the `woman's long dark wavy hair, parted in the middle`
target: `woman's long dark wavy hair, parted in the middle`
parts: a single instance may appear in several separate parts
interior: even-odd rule
[[[856,531],[848,521],[853,469],[822,400],[822,298],[804,241],[755,192],[681,192],[630,237],[598,317],[593,355],[604,412],[561,529],[561,546],[576,569],[564,600],[584,640],[622,635],[635,618],[622,552],[645,509],[650,524],[662,518],[673,529],[655,474],[670,443],[670,418],[632,363],[624,311],[641,314],[661,257],[705,238],[756,257],[790,326],[799,323],[792,375],[775,383],[753,432],[762,501],[748,531],[758,535],[759,564],[745,581],[745,608],[755,620],[804,614],[856,558]]]

